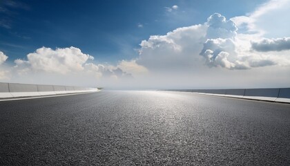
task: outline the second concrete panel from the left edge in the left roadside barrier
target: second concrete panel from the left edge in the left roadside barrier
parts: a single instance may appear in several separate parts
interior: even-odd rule
[[[40,95],[36,84],[8,83],[10,94],[13,97],[26,97]]]

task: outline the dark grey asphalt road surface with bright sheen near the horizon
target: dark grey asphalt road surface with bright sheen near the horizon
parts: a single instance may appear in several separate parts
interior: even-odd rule
[[[290,104],[166,91],[0,102],[0,165],[290,165]]]

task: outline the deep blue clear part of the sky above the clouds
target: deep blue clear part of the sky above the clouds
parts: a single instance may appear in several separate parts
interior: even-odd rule
[[[115,63],[137,56],[134,48],[150,35],[202,24],[214,12],[225,17],[244,15],[261,2],[1,1],[6,11],[1,12],[0,50],[13,60],[25,58],[41,46],[75,46],[100,62]],[[175,5],[177,10],[167,11]]]

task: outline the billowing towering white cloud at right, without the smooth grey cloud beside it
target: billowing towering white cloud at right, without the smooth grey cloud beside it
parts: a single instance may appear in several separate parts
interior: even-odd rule
[[[250,69],[277,64],[290,65],[286,55],[259,55],[253,53],[251,51],[253,48],[262,48],[263,42],[251,42],[252,39],[259,39],[260,34],[239,34],[237,26],[231,19],[226,20],[222,15],[215,13],[209,17],[206,24],[209,25],[206,31],[206,37],[209,39],[204,42],[200,55],[206,59],[207,66]],[[283,45],[281,44],[282,48],[285,48],[285,45],[287,45],[284,44],[285,40],[285,38],[283,42],[276,40],[276,43],[283,43]],[[269,40],[267,42],[269,43]],[[269,46],[264,47],[269,49]],[[284,62],[287,63],[281,62],[281,59],[284,59]]]

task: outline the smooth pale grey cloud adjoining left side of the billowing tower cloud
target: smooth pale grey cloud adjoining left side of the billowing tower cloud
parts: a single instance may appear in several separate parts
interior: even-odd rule
[[[166,35],[154,35],[141,42],[136,63],[149,71],[184,70],[198,62],[205,41],[206,25],[177,28]]]

